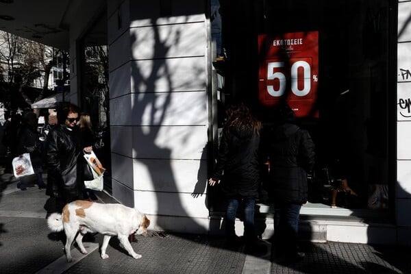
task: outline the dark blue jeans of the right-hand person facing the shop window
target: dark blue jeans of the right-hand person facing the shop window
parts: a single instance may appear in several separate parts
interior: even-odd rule
[[[301,205],[275,203],[274,240],[277,251],[293,256],[298,250],[298,223]]]

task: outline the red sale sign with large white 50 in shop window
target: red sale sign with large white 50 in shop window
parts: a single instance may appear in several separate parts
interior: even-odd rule
[[[297,117],[318,117],[319,32],[258,36],[259,99],[263,105],[286,101]]]

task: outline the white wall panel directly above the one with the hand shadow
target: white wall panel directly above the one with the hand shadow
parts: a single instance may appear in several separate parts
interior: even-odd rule
[[[201,159],[206,144],[206,125],[133,127],[134,158]]]

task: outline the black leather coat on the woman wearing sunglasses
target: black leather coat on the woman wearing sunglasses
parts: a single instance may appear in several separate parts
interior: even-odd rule
[[[84,190],[82,135],[78,127],[57,125],[47,135],[47,192],[66,201],[81,199]]]

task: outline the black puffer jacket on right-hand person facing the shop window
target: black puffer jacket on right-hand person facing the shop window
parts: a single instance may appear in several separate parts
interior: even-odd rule
[[[270,189],[274,201],[302,204],[308,199],[307,171],[314,166],[314,142],[305,129],[285,123],[270,132]]]

